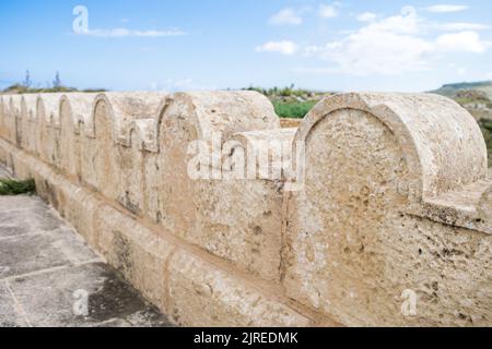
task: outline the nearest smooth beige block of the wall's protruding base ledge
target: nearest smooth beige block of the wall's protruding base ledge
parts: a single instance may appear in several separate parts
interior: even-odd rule
[[[168,284],[169,316],[184,326],[309,325],[306,317],[186,252],[173,256]]]

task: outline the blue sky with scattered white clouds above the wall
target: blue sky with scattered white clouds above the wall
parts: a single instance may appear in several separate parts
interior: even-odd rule
[[[78,5],[89,27],[74,32]],[[42,86],[59,71],[66,85],[114,91],[492,80],[488,0],[5,0],[0,33],[0,87],[26,69]]]

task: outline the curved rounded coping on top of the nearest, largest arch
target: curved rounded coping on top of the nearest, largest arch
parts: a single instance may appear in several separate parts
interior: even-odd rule
[[[308,141],[323,119],[342,109],[368,112],[398,139],[421,202],[487,178],[487,147],[475,121],[455,101],[432,94],[349,93],[326,97],[306,116],[294,143]]]

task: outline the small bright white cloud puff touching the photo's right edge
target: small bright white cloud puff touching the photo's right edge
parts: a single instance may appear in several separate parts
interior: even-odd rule
[[[436,49],[443,52],[475,52],[482,53],[491,43],[483,41],[477,32],[460,32],[453,34],[444,34],[435,40]]]

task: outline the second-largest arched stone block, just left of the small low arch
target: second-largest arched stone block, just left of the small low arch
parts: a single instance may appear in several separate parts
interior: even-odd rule
[[[250,92],[174,94],[163,103],[159,120],[160,153],[145,166],[148,212],[152,220],[200,244],[210,180],[190,178],[190,144],[200,141],[206,147],[212,143],[221,147],[234,133],[280,128],[279,120],[268,99]],[[218,233],[229,233],[231,228]]]

